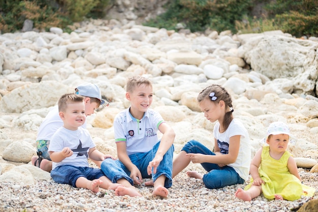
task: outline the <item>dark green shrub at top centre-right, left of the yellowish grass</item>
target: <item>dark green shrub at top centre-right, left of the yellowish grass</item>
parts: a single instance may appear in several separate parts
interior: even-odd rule
[[[246,14],[250,3],[251,0],[174,0],[165,6],[164,14],[144,25],[176,29],[177,23],[184,23],[191,31],[211,28],[235,32],[235,20]]]

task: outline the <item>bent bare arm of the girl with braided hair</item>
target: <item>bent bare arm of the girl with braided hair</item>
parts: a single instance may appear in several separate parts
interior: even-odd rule
[[[216,146],[214,146],[216,151],[215,155],[203,155],[194,153],[189,153],[186,155],[189,155],[191,157],[193,163],[216,163],[221,165],[234,163],[240,149],[240,138],[241,135],[234,135],[230,137],[228,154],[221,154],[216,142]]]

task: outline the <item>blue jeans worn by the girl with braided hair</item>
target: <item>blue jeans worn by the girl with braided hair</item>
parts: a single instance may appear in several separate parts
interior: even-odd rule
[[[184,145],[181,151],[186,153],[200,153],[204,155],[215,155],[197,140],[190,140]],[[201,163],[202,167],[208,171],[203,175],[203,183],[209,189],[217,189],[235,184],[243,184],[244,180],[231,166],[219,167],[215,163]]]

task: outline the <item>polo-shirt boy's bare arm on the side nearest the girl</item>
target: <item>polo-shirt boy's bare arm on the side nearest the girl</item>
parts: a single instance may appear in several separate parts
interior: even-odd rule
[[[157,172],[158,165],[163,160],[166,152],[172,146],[172,144],[174,142],[174,138],[176,136],[172,127],[170,127],[165,122],[159,126],[159,130],[163,133],[163,136],[160,140],[160,144],[159,144],[158,150],[157,150],[154,158],[152,159],[152,161],[150,161],[150,163],[147,167],[148,174],[151,174],[152,168],[153,168],[153,173]]]

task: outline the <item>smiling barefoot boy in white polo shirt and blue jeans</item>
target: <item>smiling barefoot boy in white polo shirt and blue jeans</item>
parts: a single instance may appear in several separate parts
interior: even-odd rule
[[[131,107],[114,119],[119,160],[105,159],[101,164],[112,183],[123,185],[117,187],[116,195],[137,196],[131,186],[140,185],[143,178],[152,178],[155,196],[167,197],[167,188],[172,186],[175,132],[158,112],[149,109],[152,95],[149,80],[139,76],[129,79],[126,99]],[[163,133],[161,140],[157,137],[158,130]]]

